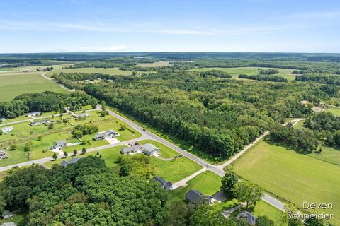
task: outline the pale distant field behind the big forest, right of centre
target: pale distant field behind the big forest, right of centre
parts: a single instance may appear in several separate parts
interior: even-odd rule
[[[209,70],[220,70],[225,71],[233,76],[233,78],[238,79],[239,74],[246,75],[254,75],[258,73],[258,69],[274,69],[274,68],[266,68],[266,67],[255,67],[255,66],[246,66],[246,67],[237,67],[237,68],[200,68],[200,69],[192,69],[192,71],[209,71]],[[276,76],[282,76],[283,78],[287,78],[288,81],[293,81],[295,79],[295,75],[291,74],[292,69],[277,69],[279,73],[275,74]]]

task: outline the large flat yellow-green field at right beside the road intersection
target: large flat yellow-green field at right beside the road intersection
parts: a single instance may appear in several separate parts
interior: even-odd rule
[[[340,224],[340,167],[260,141],[234,163],[241,177],[302,207],[304,201],[332,203],[333,222]],[[322,212],[322,210],[319,210]]]

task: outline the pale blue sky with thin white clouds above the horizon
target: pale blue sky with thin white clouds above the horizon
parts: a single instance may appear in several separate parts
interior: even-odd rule
[[[339,0],[1,0],[0,52],[340,52]]]

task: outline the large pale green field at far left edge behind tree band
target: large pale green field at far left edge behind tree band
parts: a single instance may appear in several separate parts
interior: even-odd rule
[[[40,93],[46,90],[57,93],[67,92],[53,81],[43,78],[39,73],[15,75],[0,74],[0,102],[13,100],[23,93]]]

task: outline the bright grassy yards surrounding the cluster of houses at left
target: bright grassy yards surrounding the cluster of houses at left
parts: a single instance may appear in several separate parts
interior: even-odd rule
[[[46,113],[45,113],[46,114]],[[13,126],[13,130],[8,134],[3,134],[0,136],[0,149],[6,148],[6,153],[8,158],[0,160],[0,167],[6,165],[13,165],[19,162],[25,162],[27,160],[37,160],[42,157],[51,157],[52,152],[50,148],[55,143],[55,141],[67,140],[67,143],[73,143],[75,145],[70,145],[62,148],[63,151],[72,153],[74,149],[81,150],[83,147],[94,148],[102,145],[108,145],[108,141],[94,141],[94,135],[86,135],[82,139],[86,139],[86,144],[77,144],[79,141],[74,139],[72,135],[73,126],[77,124],[93,123],[98,126],[99,131],[106,131],[108,129],[113,129],[120,133],[118,136],[118,141],[127,141],[131,138],[137,138],[140,133],[130,128],[130,126],[125,125],[123,121],[115,119],[111,115],[106,117],[101,117],[99,111],[89,112],[90,117],[86,120],[76,121],[73,117],[69,119],[67,123],[56,123],[53,129],[47,129],[45,125],[30,126],[29,121],[21,122],[18,124],[12,124],[7,126]],[[54,117],[54,121],[62,121],[62,119],[70,117],[69,115],[64,115],[62,117]],[[26,117],[27,118],[27,117]],[[41,120],[41,119],[38,119]],[[126,126],[125,130],[120,130],[122,125]],[[3,128],[6,126],[0,126]],[[32,142],[33,146],[30,151],[25,150],[27,143]],[[15,150],[9,150],[11,145],[16,145]]]

